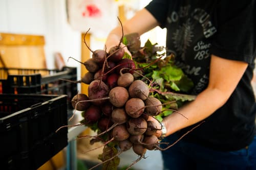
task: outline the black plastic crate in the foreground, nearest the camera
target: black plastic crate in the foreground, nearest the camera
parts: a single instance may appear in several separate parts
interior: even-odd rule
[[[0,94],[1,169],[37,169],[68,144],[67,95]]]

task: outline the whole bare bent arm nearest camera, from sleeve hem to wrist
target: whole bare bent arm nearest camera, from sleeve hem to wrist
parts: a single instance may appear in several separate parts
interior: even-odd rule
[[[247,66],[245,62],[212,55],[208,87],[198,94],[193,102],[178,110],[187,119],[177,113],[163,119],[167,129],[166,136],[200,122],[223,106],[236,88]]]

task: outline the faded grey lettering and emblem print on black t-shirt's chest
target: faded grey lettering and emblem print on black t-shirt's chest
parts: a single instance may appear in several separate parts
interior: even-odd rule
[[[174,9],[167,18],[169,51],[175,52],[177,66],[193,80],[194,94],[208,84],[208,75],[203,74],[209,72],[211,43],[208,39],[217,32],[211,19],[208,12],[190,5]]]

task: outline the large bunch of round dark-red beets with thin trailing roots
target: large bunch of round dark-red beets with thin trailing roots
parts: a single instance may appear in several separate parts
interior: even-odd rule
[[[137,49],[140,47],[138,34],[126,35],[126,39]],[[130,168],[144,158],[146,150],[161,149],[158,132],[162,127],[154,116],[161,113],[162,104],[150,95],[149,85],[140,80],[140,68],[136,68],[132,57],[125,57],[120,44],[108,53],[91,52],[92,57],[82,63],[88,72],[80,81],[89,85],[88,94],[78,93],[71,101],[75,110],[82,111],[82,125],[97,132],[96,136],[82,137],[91,137],[91,143],[103,142],[102,163],[111,162],[120,153],[132,149],[139,158]],[[107,150],[116,154],[104,156]]]

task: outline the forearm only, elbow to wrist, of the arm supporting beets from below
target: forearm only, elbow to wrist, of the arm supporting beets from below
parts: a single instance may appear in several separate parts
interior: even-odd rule
[[[209,96],[211,97],[209,98]],[[225,96],[218,89],[204,90],[197,96],[195,101],[181,107],[178,113],[174,112],[163,119],[163,124],[167,129],[166,136],[205,119],[220,108],[227,98],[227,95]]]

